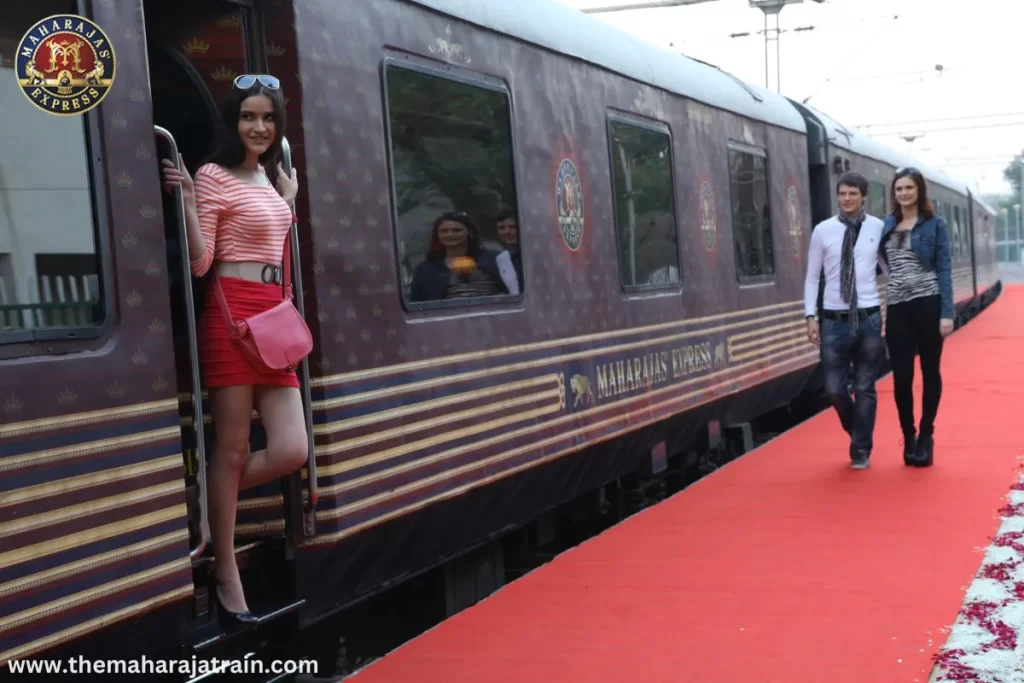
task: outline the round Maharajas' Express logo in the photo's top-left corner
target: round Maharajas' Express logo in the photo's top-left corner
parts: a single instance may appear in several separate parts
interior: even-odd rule
[[[115,55],[102,29],[84,16],[47,16],[17,45],[14,74],[29,100],[50,114],[95,108],[114,83]]]

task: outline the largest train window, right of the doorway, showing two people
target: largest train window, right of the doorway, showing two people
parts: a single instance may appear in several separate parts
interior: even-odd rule
[[[507,90],[390,59],[384,81],[406,304],[522,293]]]

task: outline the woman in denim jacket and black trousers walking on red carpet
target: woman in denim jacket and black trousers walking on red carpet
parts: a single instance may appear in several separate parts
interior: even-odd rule
[[[893,368],[903,462],[929,467],[942,394],[940,359],[953,331],[952,264],[946,221],[932,209],[921,171],[901,168],[892,182],[893,212],[882,230],[887,266],[886,344]],[[920,429],[913,421],[913,362],[921,355],[924,396]]]

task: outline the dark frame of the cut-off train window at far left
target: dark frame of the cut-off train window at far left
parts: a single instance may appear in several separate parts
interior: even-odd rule
[[[79,3],[81,9],[81,3]],[[88,16],[88,14],[83,14]],[[104,166],[104,137],[101,126],[104,104],[81,114],[82,133],[85,140],[86,169],[89,175],[89,199],[91,205],[90,218],[92,233],[96,248],[97,266],[99,269],[99,301],[103,306],[103,316],[98,325],[59,328],[34,328],[29,330],[0,330],[0,349],[6,349],[15,344],[25,346],[24,350],[10,353],[4,350],[0,358],[47,356],[68,353],[66,344],[59,347],[44,346],[52,342],[94,342],[104,341],[114,333],[117,323],[115,310],[115,273],[113,258],[113,221],[111,218],[111,196]],[[79,344],[74,344],[79,346]]]

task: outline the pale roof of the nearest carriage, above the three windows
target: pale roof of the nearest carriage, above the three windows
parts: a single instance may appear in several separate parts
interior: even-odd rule
[[[409,1],[711,106],[807,132],[804,118],[785,97],[712,65],[634,38],[553,0]]]

